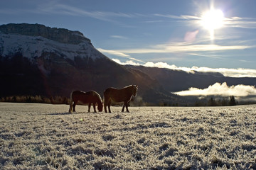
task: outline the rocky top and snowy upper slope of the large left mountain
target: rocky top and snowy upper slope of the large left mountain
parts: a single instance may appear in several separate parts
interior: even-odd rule
[[[15,55],[27,57],[31,62],[38,58],[62,62],[77,58],[88,62],[97,58],[108,59],[78,31],[26,23],[0,26],[0,56]]]

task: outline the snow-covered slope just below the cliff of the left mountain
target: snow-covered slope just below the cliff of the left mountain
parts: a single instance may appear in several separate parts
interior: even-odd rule
[[[105,57],[92,46],[90,41],[86,40],[75,45],[49,40],[41,36],[0,32],[0,56],[13,56],[16,53],[20,53],[23,57],[28,57],[31,60],[50,53],[70,60],[74,60],[74,57],[90,57],[92,60]]]

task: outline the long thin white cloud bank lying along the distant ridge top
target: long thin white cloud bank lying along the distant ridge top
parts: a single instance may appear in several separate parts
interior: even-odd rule
[[[138,62],[134,62],[132,60],[128,60],[126,62],[121,62],[118,59],[112,59],[114,62],[117,62],[122,65],[131,64],[131,65],[142,65],[145,67],[159,67],[159,68],[167,68],[174,70],[182,70],[185,72],[218,72],[223,74],[225,77],[256,77],[256,69],[226,69],[226,68],[218,68],[213,69],[209,67],[176,67],[176,65],[169,65],[166,62],[146,62],[144,64],[140,64]]]

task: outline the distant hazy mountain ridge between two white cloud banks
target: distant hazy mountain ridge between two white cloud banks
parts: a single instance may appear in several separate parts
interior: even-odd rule
[[[256,78],[254,77],[225,77],[223,74],[215,72],[184,72],[174,69],[164,69],[157,67],[144,66],[125,66],[127,69],[137,69],[150,75],[151,79],[158,81],[161,86],[164,86],[166,91],[184,91],[190,87],[198,89],[206,89],[208,86],[216,82],[226,82],[228,86],[238,84],[256,86]]]

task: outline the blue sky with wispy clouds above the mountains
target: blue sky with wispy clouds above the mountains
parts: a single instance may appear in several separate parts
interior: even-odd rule
[[[225,68],[256,77],[255,6],[255,0],[1,0],[0,24],[79,30],[119,63]],[[202,23],[210,9],[223,12],[214,33]]]

